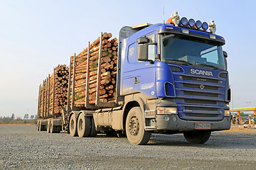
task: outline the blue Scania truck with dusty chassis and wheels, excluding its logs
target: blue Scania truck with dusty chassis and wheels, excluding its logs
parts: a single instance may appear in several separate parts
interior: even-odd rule
[[[181,18],[178,26],[125,26],[118,40],[115,103],[96,98],[95,107],[83,109],[68,103],[56,126],[81,137],[114,130],[132,145],[145,145],[151,133],[183,133],[188,142],[204,143],[211,132],[230,129],[225,39],[207,23]]]

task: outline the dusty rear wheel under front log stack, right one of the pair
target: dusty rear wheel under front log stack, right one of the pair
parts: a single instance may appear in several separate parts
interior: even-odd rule
[[[87,117],[83,113],[81,113],[78,117],[78,136],[89,137],[90,130],[91,130],[90,117]]]

